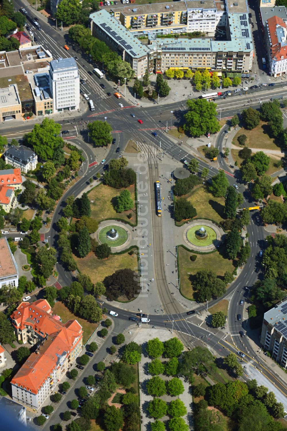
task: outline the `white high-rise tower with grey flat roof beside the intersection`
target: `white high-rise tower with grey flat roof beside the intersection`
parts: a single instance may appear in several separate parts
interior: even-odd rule
[[[50,62],[50,94],[53,96],[53,112],[79,108],[80,75],[74,58],[59,58]]]

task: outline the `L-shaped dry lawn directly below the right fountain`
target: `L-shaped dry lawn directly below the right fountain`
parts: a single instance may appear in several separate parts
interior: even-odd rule
[[[203,269],[209,269],[211,271],[214,271],[215,274],[219,276],[223,276],[225,271],[234,271],[232,261],[224,259],[218,252],[218,250],[215,250],[214,253],[197,254],[197,259],[195,262],[191,262],[190,260],[190,256],[192,254],[194,253],[185,250],[184,247],[178,247],[181,294],[190,300],[194,300],[190,275],[193,275]]]

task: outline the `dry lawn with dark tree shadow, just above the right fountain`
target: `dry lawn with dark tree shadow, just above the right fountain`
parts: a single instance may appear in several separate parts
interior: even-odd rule
[[[184,197],[197,210],[197,219],[210,219],[218,223],[224,219],[224,197],[212,196],[206,185],[197,187]]]

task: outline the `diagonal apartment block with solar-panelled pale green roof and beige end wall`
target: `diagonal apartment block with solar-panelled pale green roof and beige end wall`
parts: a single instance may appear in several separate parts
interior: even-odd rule
[[[148,48],[104,9],[91,13],[90,20],[93,36],[104,41],[130,63],[135,76],[143,77],[147,69]]]

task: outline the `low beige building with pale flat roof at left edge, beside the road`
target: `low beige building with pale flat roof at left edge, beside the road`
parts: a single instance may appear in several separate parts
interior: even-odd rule
[[[22,105],[17,84],[0,88],[0,121],[21,119]]]

